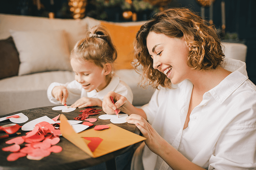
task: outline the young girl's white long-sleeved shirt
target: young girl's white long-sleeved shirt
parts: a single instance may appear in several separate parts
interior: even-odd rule
[[[55,86],[65,86],[68,89],[68,98],[67,101],[72,98],[77,98],[80,96],[82,97],[89,97],[89,98],[98,98],[101,101],[103,101],[103,98],[108,92],[113,91],[118,94],[121,94],[122,96],[125,96],[129,102],[132,103],[133,101],[133,93],[131,91],[131,88],[120,78],[116,75],[114,75],[110,81],[110,83],[102,90],[97,92],[96,90],[92,90],[90,92],[86,92],[85,89],[83,89],[82,85],[77,82],[76,80],[73,80],[72,82],[68,82],[66,84],[61,84],[57,82],[53,82],[49,85],[47,89],[47,97],[51,103],[54,104],[60,104],[60,101],[56,100],[52,95],[51,91]]]

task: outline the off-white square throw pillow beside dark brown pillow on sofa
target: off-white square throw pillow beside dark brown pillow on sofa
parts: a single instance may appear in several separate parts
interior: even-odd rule
[[[18,75],[54,70],[72,70],[64,30],[14,31],[10,30],[19,52]]]

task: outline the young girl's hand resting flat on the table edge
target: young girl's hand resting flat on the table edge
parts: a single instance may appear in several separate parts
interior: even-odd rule
[[[74,102],[74,104],[72,104],[70,107],[84,108],[89,106],[102,106],[102,101],[98,98],[82,97]]]

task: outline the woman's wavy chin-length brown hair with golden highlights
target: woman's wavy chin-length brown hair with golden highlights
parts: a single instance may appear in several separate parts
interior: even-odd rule
[[[153,68],[153,60],[147,49],[146,39],[149,32],[162,33],[168,37],[182,38],[189,44],[188,66],[197,70],[215,69],[224,54],[220,39],[213,26],[187,8],[170,8],[158,12],[147,23],[142,25],[136,34],[135,70],[139,72],[142,66],[142,86],[149,84],[157,89],[159,85],[170,88],[171,80],[165,74]]]

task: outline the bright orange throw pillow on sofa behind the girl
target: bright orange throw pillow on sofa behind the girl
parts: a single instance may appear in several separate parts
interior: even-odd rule
[[[141,25],[121,26],[106,21],[101,21],[101,25],[104,25],[108,29],[112,41],[116,46],[117,59],[114,62],[114,68],[116,70],[132,69],[131,62],[134,59],[133,42]]]

